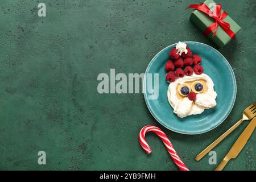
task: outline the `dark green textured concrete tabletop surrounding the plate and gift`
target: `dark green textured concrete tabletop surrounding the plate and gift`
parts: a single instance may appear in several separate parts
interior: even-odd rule
[[[160,126],[142,94],[99,94],[97,76],[143,73],[162,48],[180,41],[209,44],[191,22],[201,1],[39,1],[0,2],[0,169],[155,169],[176,170],[160,139],[147,135],[153,152],[138,143],[144,125],[163,129],[192,170],[213,170],[198,152],[224,133],[255,101],[256,4],[254,0],[216,1],[242,27],[220,52],[232,65],[237,99],[217,129],[182,135]],[[216,147],[217,163],[246,123]],[[225,169],[255,170],[254,133]],[[47,164],[38,164],[38,151]]]

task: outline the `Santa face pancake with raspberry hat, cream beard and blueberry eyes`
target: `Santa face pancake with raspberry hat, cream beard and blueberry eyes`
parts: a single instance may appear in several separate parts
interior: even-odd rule
[[[181,42],[170,51],[170,57],[165,66],[166,80],[170,82],[167,98],[174,113],[183,118],[215,107],[217,93],[212,79],[203,73],[201,57],[192,55],[189,47]]]

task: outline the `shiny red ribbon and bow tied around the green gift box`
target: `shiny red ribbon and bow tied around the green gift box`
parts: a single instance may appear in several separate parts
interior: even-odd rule
[[[212,32],[213,30],[214,30],[213,36],[215,36],[216,32],[217,32],[218,25],[220,25],[223,28],[223,30],[226,32],[226,34],[228,34],[230,36],[231,39],[233,39],[236,36],[236,34],[232,30],[230,30],[230,24],[223,21],[223,19],[226,18],[226,16],[228,16],[228,14],[225,11],[223,11],[221,13],[221,5],[216,5],[214,7],[213,12],[210,11],[209,7],[207,5],[205,5],[205,3],[201,3],[200,5],[190,5],[190,6],[188,6],[188,8],[199,10],[199,11],[207,14],[208,16],[212,17],[213,19],[215,19],[215,22],[212,23],[203,32],[203,34],[205,36],[208,36],[210,34],[210,32]]]

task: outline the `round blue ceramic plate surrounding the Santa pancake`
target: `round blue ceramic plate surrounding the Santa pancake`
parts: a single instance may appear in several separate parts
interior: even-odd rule
[[[184,43],[191,48],[193,54],[202,57],[201,65],[204,68],[204,73],[210,76],[214,82],[217,106],[204,110],[201,114],[189,115],[185,118],[179,118],[173,112],[167,100],[169,84],[165,79],[164,65],[169,59],[168,53],[176,44],[164,48],[155,55],[148,65],[143,81],[144,98],[153,117],[167,129],[181,134],[201,134],[214,129],[228,117],[236,100],[236,78],[228,61],[216,49],[199,42]],[[152,92],[147,89],[147,85],[149,85],[147,73],[159,73],[159,96],[155,100],[150,98]],[[152,80],[154,83],[154,79]]]

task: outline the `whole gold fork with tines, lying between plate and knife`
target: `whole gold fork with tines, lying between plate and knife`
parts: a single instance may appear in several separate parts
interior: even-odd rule
[[[244,111],[242,115],[242,119],[238,121],[236,124],[234,124],[228,131],[226,131],[224,134],[222,134],[218,139],[216,139],[212,144],[210,144],[207,148],[205,148],[203,151],[200,152],[199,155],[196,156],[196,161],[199,161],[202,159],[205,155],[208,154],[209,151],[211,151],[215,146],[217,146],[218,143],[220,143],[226,136],[228,136],[234,129],[236,129],[243,121],[253,119],[256,115],[256,102],[249,105]]]

